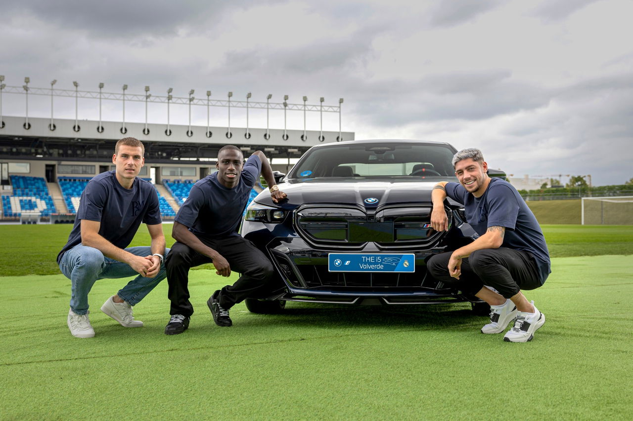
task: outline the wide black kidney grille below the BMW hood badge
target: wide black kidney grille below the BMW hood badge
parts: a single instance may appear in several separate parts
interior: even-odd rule
[[[294,217],[296,231],[312,245],[358,247],[425,246],[441,236],[430,226],[430,206],[385,207],[375,213],[336,205],[305,206]]]

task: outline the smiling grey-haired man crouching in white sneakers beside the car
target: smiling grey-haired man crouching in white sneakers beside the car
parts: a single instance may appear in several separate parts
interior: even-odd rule
[[[441,181],[434,187],[431,226],[436,231],[448,229],[444,210],[448,196],[464,204],[467,222],[479,238],[433,256],[427,262],[429,272],[490,305],[490,323],[482,327],[482,333],[501,333],[515,320],[503,340],[531,341],[545,323],[545,315],[521,290],[539,288],[551,272],[541,227],[517,189],[488,176],[488,164],[479,149],[457,152],[453,167],[460,182]]]

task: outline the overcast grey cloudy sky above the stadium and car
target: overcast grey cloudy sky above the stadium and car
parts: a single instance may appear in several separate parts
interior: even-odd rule
[[[344,97],[342,128],[356,138],[480,147],[515,176],[633,177],[630,0],[4,0],[0,9],[8,85],[30,76],[35,87],[55,78],[60,88],[127,83],[183,97],[191,88],[217,99]],[[23,115],[4,100],[5,114]],[[74,118],[73,101],[57,107]],[[104,119],[120,115],[120,105],[104,107]],[[144,121],[142,104],[129,109],[130,121]],[[232,124],[244,126],[235,112]],[[261,114],[251,119],[265,125]],[[289,119],[303,128],[301,113]],[[206,125],[206,111],[194,121]],[[271,127],[282,121],[271,115]],[[338,116],[324,125],[338,130]],[[318,115],[308,129],[318,130]]]

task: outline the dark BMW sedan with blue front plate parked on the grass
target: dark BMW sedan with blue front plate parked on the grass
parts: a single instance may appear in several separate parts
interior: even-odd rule
[[[431,190],[456,181],[448,143],[354,140],[312,147],[279,189],[274,204],[262,192],[249,205],[242,235],[263,250],[279,274],[279,289],[249,298],[251,312],[279,312],[286,301],[402,305],[471,302],[427,272],[434,254],[461,247],[477,234],[462,205],[446,200],[449,229],[430,226]],[[490,170],[491,176],[505,174]]]

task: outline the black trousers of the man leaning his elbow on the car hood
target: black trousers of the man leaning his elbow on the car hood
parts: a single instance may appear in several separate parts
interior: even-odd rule
[[[230,308],[244,298],[258,298],[272,290],[274,268],[268,257],[256,248],[251,241],[241,236],[228,236],[206,240],[200,238],[205,245],[213,248],[229,262],[232,272],[242,276],[232,285],[227,285],[220,292],[220,305]],[[194,308],[189,302],[189,269],[204,263],[212,263],[209,257],[202,255],[189,246],[174,243],[165,260],[168,297],[172,302],[170,315],[182,314],[190,317]]]

